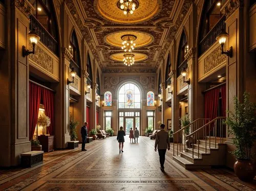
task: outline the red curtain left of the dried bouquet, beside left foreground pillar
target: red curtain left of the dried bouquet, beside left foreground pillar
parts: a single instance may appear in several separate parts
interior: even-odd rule
[[[37,124],[42,88],[29,82],[29,140],[33,139],[33,134]]]

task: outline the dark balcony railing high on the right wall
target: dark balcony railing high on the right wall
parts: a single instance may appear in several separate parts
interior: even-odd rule
[[[209,49],[209,47],[216,42],[216,37],[218,34],[226,29],[225,24],[226,17],[223,16],[221,19],[216,23],[214,28],[212,28],[207,35],[201,40],[199,43],[199,56],[202,55],[205,51]]]

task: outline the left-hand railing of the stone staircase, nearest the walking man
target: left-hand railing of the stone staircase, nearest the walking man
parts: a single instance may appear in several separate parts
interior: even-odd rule
[[[186,141],[186,135],[185,135],[185,129],[189,128],[189,132],[194,132],[196,131],[199,127],[205,125],[205,123],[208,123],[210,119],[209,118],[197,118],[195,121],[191,122],[185,127],[182,127],[175,133],[171,134],[173,138],[175,138],[176,135],[176,142],[177,142],[177,156],[179,156],[179,153],[183,152],[186,150],[185,147],[185,141]],[[175,156],[175,144],[173,143],[173,156]]]

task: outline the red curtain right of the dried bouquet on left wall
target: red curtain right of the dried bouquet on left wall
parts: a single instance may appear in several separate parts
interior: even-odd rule
[[[44,101],[45,113],[51,120],[51,124],[47,127],[47,131],[50,135],[53,135],[54,127],[54,94],[51,90],[42,88],[42,100]]]

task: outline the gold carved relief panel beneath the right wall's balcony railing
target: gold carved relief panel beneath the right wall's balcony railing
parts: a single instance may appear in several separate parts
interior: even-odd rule
[[[221,45],[219,45],[215,50],[213,50],[204,59],[204,74],[208,73],[211,69],[215,68],[217,65],[221,64],[226,60],[226,56],[221,54]]]

